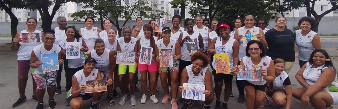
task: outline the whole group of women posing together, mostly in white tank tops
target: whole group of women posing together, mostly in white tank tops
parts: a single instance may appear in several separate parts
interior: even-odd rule
[[[54,94],[61,94],[61,72],[64,64],[66,72],[66,106],[79,109],[83,105],[83,100],[93,98],[90,108],[98,109],[102,93],[85,93],[87,80],[107,79],[106,101],[114,105],[114,98],[118,97],[117,87],[122,92],[119,105],[124,105],[130,96],[130,105],[137,104],[135,92],[139,89],[138,70],[141,75],[141,104],[147,102],[146,91],[150,91],[149,99],[153,103],[159,100],[155,96],[158,91],[157,81],[160,77],[161,86],[165,93],[162,99],[163,104],[167,104],[171,99],[172,109],[178,109],[177,95],[182,96],[183,83],[205,84],[204,109],[210,109],[210,104],[216,95],[215,109],[227,109],[227,102],[232,95],[233,76],[237,75],[236,65],[261,66],[263,81],[237,80],[239,90],[237,101],[243,103],[245,100],[244,89],[246,92],[246,106],[248,109],[257,109],[267,105],[268,97],[276,104],[289,109],[292,96],[301,100],[303,105],[312,103],[318,109],[325,109],[330,105],[338,104],[338,83],[337,71],[333,67],[332,61],[323,49],[320,49],[319,35],[313,32],[312,26],[314,19],[303,17],[299,20],[300,30],[292,32],[286,27],[286,19],[278,17],[275,21],[275,28],[266,29],[266,22],[262,19],[257,21],[258,27],[254,26],[255,19],[252,15],[247,15],[244,19],[245,26],[242,26],[242,19],[236,19],[235,23],[228,20],[213,20],[211,27],[213,30],[204,26],[209,21],[203,22],[201,16],[195,20],[186,19],[184,28],[179,27],[181,17],[172,17],[172,26],[164,27],[161,32],[154,31],[154,23],[143,25],[141,17],[136,19],[136,24],[132,28],[124,26],[122,36],[119,38],[118,32],[111,29],[110,20],[104,20],[105,30],[93,27],[94,19],[87,17],[86,27],[76,32],[75,27],[68,26],[66,18],[59,16],[57,23],[59,27],[53,30],[41,32],[36,30],[37,21],[34,18],[27,19],[27,29],[18,32],[13,40],[11,49],[18,50],[18,85],[20,97],[13,107],[19,106],[26,101],[25,87],[28,79],[28,71],[31,70],[33,77],[32,99],[38,101],[36,109],[43,109],[43,97],[45,88],[49,95],[49,108],[57,106],[53,97]],[[166,20],[168,21],[168,20]],[[196,23],[196,25],[195,25]],[[195,25],[195,26],[194,26]],[[256,37],[258,40],[243,42],[243,31],[245,29],[258,30]],[[23,35],[39,34],[40,41],[35,43],[22,43]],[[191,55],[187,48],[187,40],[197,41],[197,51]],[[38,39],[39,40],[39,39]],[[80,58],[67,59],[66,45],[68,42],[80,43]],[[299,49],[300,70],[296,73],[296,79],[303,86],[292,90],[288,73],[295,60],[294,43]],[[152,60],[150,65],[138,62],[141,54],[141,47],[152,47]],[[172,49],[173,67],[160,67],[159,62],[163,59],[160,56],[160,49]],[[135,64],[117,65],[116,59],[118,51],[135,52]],[[42,54],[58,54],[60,70],[43,72]],[[228,53],[230,61],[230,74],[212,73],[208,69],[210,64],[215,68],[213,55],[218,53]],[[215,89],[213,90],[212,75],[214,75]],[[147,89],[147,79],[149,88]],[[168,81],[169,82],[168,82]],[[222,86],[224,88],[224,100],[221,100]],[[171,88],[171,89],[170,89]],[[171,91],[171,95],[170,95]],[[178,93],[178,94],[177,94]],[[180,99],[184,102],[182,109],[192,106],[192,101]]]

